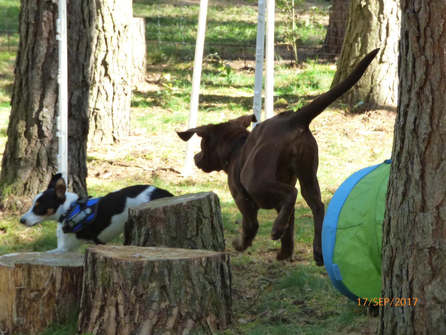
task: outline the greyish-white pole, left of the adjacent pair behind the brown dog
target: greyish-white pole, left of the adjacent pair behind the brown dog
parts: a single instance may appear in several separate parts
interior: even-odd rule
[[[257,16],[257,41],[256,41],[256,69],[254,75],[254,101],[252,111],[257,122],[252,123],[252,128],[260,122],[262,113],[262,89],[263,89],[263,55],[265,47],[265,7],[266,0],[259,0],[259,13]]]

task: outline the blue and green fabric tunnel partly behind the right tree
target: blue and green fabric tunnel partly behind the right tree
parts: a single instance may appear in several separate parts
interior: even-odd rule
[[[390,159],[349,176],[325,213],[322,255],[331,282],[351,300],[381,294],[381,239]]]

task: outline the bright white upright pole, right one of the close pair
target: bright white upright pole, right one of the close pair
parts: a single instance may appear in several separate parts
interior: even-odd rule
[[[273,116],[274,101],[274,0],[267,0],[265,57],[265,120]]]

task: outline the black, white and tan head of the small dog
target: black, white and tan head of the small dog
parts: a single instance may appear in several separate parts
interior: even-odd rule
[[[46,220],[57,221],[66,210],[60,208],[66,201],[65,193],[65,180],[62,173],[58,173],[51,178],[48,188],[34,197],[31,208],[20,218],[20,223],[34,226]]]

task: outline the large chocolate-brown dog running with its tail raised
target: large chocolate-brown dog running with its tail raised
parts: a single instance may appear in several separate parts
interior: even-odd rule
[[[316,176],[318,144],[309,125],[361,78],[378,51],[367,54],[346,79],[310,104],[265,120],[251,133],[246,128],[256,122],[254,115],[177,132],[184,141],[195,133],[202,138],[202,151],[194,156],[198,168],[227,173],[231,195],[242,214],[242,233],[232,241],[236,250],[244,251],[252,245],[259,228],[259,208],[276,209],[271,238],[281,239],[277,260],[293,255],[295,185],[299,180],[302,197],[313,212],[313,257],[317,265],[324,264],[321,234],[325,209]]]

